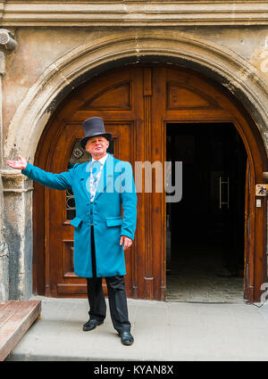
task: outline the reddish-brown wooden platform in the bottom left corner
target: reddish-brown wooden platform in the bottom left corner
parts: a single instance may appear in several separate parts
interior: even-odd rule
[[[40,300],[0,302],[0,361],[9,355],[40,314]]]

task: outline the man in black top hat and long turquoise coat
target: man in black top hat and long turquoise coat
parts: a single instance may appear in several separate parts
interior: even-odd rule
[[[105,277],[110,313],[121,343],[134,342],[124,284],[124,250],[134,240],[137,195],[129,162],[119,161],[107,148],[112,135],[105,132],[103,119],[86,119],[85,137],[80,144],[92,159],[72,169],[54,174],[31,165],[19,155],[18,161],[6,161],[13,169],[42,185],[58,190],[71,189],[76,204],[74,228],[74,272],[87,278],[89,319],[84,331],[104,323],[106,315],[102,277]],[[121,218],[121,209],[123,217]]]

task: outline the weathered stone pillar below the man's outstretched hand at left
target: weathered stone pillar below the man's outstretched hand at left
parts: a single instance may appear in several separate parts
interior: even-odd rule
[[[27,300],[32,295],[32,181],[21,170],[2,169],[1,174],[8,246],[3,272],[9,276],[9,280],[4,277],[4,284],[9,287],[9,300]]]

